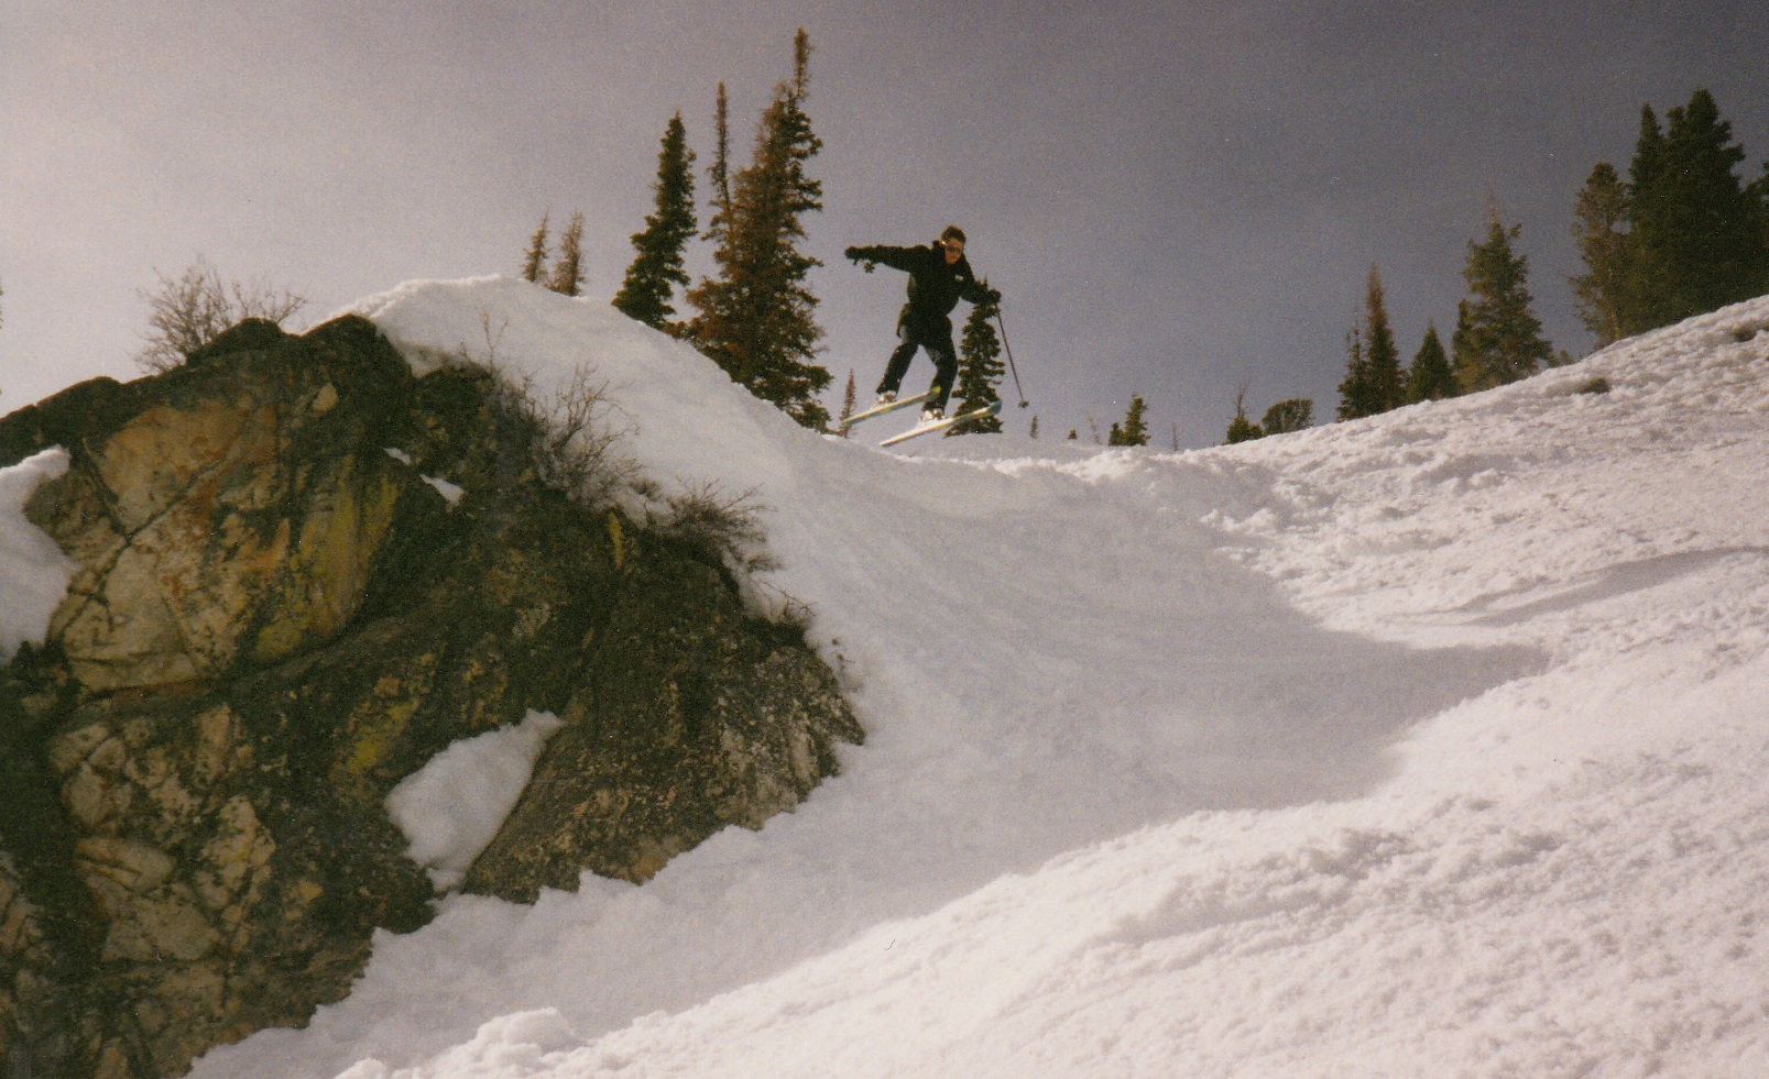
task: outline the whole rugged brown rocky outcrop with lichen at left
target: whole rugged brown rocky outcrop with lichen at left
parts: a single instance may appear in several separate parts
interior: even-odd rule
[[[835,769],[860,729],[803,633],[716,545],[554,490],[543,433],[354,317],[0,421],[0,465],[69,449],[28,515],[80,564],[0,670],[9,1075],[175,1075],[341,998],[430,916],[387,792],[529,709],[564,727],[474,892],[644,881]]]

